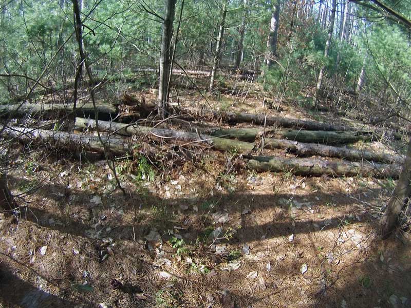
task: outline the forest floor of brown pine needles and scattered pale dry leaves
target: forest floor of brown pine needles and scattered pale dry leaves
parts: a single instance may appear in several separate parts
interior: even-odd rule
[[[264,112],[258,98],[188,102]],[[236,153],[198,147],[167,172],[118,161],[124,195],[104,160],[22,149],[8,176],[27,207],[18,223],[0,216],[0,306],[411,306],[411,237],[378,234],[391,179],[256,174]]]

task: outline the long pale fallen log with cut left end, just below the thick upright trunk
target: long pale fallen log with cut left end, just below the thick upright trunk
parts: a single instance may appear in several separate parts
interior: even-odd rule
[[[76,118],[76,127],[96,128],[96,121],[84,118]],[[252,143],[208,136],[207,134],[200,134],[198,132],[187,132],[181,130],[147,127],[135,124],[123,124],[109,121],[98,121],[97,128],[108,130],[111,132],[116,132],[119,134],[123,134],[125,136],[132,136],[133,134],[151,134],[152,136],[159,138],[175,138],[177,140],[181,140],[184,142],[201,142],[211,145],[214,149],[220,151],[235,150],[238,152],[250,152],[254,149],[254,145]]]

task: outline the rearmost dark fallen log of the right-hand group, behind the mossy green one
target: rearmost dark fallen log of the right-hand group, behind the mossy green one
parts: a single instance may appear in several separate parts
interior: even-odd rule
[[[252,123],[256,125],[279,126],[285,128],[302,128],[306,130],[326,130],[326,131],[353,131],[345,125],[322,123],[313,120],[301,120],[287,117],[278,117],[269,115],[267,118],[264,114],[253,114],[246,112],[217,112],[212,110],[199,110],[195,108],[182,108],[180,114],[188,115],[192,118],[210,118],[219,119],[226,123]]]

